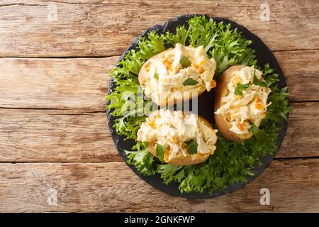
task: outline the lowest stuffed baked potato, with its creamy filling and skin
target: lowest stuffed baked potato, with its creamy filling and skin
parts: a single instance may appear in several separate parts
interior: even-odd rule
[[[205,118],[182,111],[159,110],[142,123],[138,140],[159,160],[172,165],[194,165],[216,150],[217,131]],[[157,152],[157,146],[163,153]],[[162,155],[162,157],[159,157]]]

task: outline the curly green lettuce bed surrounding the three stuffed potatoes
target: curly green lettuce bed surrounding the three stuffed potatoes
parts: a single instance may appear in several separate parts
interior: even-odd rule
[[[147,151],[147,144],[136,141],[137,132],[145,116],[130,116],[127,109],[135,106],[137,114],[145,108],[150,100],[144,101],[144,106],[137,106],[138,72],[143,63],[159,52],[172,47],[176,43],[182,45],[203,45],[206,55],[214,57],[217,62],[218,79],[231,65],[257,65],[257,60],[249,45],[250,40],[242,38],[237,29],[232,30],[230,24],[216,23],[204,16],[190,18],[189,28],[179,26],[176,33],[162,35],[151,31],[147,38],[141,38],[137,50],[130,50],[123,60],[112,70],[111,77],[115,88],[106,97],[107,108],[116,117],[114,128],[118,135],[135,141],[131,151],[125,151],[128,162],[134,165],[143,175],[159,174],[164,184],[179,183],[181,192],[214,192],[237,182],[246,182],[247,176],[253,176],[255,165],[261,165],[260,157],[273,154],[276,150],[276,138],[291,111],[289,94],[285,88],[277,87],[279,75],[269,65],[264,65],[263,74],[267,87],[272,89],[268,101],[272,101],[267,109],[267,118],[262,120],[259,128],[250,129],[254,136],[245,142],[231,142],[218,133],[216,152],[208,160],[197,165],[177,166],[155,162]]]

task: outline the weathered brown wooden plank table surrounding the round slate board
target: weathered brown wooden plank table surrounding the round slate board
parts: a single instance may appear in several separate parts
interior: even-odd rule
[[[319,2],[0,2],[0,211],[319,211]],[[57,14],[55,14],[55,12]],[[286,75],[293,112],[280,152],[215,199],[157,191],[123,162],[105,114],[108,72],[138,34],[186,13],[257,34]],[[270,205],[259,204],[260,189]]]

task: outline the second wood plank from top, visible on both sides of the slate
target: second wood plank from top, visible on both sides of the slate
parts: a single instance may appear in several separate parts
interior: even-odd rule
[[[291,101],[319,100],[315,50],[276,52]],[[118,57],[0,58],[0,107],[103,111],[108,72]]]

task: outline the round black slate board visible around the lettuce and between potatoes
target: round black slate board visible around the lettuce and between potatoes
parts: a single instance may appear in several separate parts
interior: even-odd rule
[[[165,33],[166,31],[170,31],[174,33],[175,28],[177,26],[182,26],[185,25],[186,28],[188,28],[188,23],[186,21],[189,20],[192,16],[201,16],[200,14],[189,14],[189,15],[184,15],[184,16],[179,16],[177,18],[172,19],[171,21],[168,21],[165,23],[163,26],[160,25],[155,25],[151,28],[148,28],[147,31],[142,33],[129,47],[128,49],[123,52],[123,55],[121,55],[120,59],[121,60],[128,51],[137,49],[137,44],[138,41],[140,40],[141,37],[147,37],[147,33],[149,33],[152,30],[157,31],[157,33]],[[206,15],[205,15],[206,16]],[[210,16],[206,16],[206,18],[211,18]],[[230,23],[232,26],[232,29],[237,28],[237,31],[240,31],[242,36],[245,37],[247,40],[252,40],[252,45],[250,45],[250,48],[255,50],[255,54],[257,56],[257,65],[264,65],[266,63],[269,63],[269,66],[272,67],[276,72],[279,74],[279,87],[286,87],[286,79],[284,78],[284,73],[282,72],[278,62],[276,61],[276,58],[272,54],[272,51],[267,48],[267,45],[265,45],[262,40],[260,40],[257,35],[254,35],[251,33],[247,28],[244,26],[241,26],[234,21],[230,21],[226,18],[213,18],[217,23],[220,21],[223,21],[223,23],[228,24]],[[112,91],[113,87],[115,85],[113,84],[113,78],[111,79],[111,82],[108,86],[108,94]],[[213,119],[213,106],[214,106],[214,100],[215,100],[215,89],[211,92],[204,92],[201,96],[198,97],[198,114],[206,118],[208,121],[211,123],[214,123]],[[130,140],[125,140],[123,136],[118,135],[113,128],[114,120],[115,118],[110,115],[109,111],[107,112],[107,117],[108,117],[108,126],[110,128],[113,141],[116,145],[116,148],[118,150],[118,153],[123,157],[125,162],[127,163],[127,158],[125,157],[124,150],[131,150],[132,146],[134,145],[133,141]],[[274,155],[278,152],[282,141],[284,140],[284,136],[286,135],[286,130],[287,130],[287,123],[284,122],[284,127],[281,129],[279,132],[278,138],[277,138],[277,149],[274,152]],[[263,165],[261,166],[256,166],[254,167],[254,176],[247,176],[247,182],[238,182],[237,184],[233,184],[232,186],[226,187],[225,189],[221,189],[219,191],[213,192],[213,194],[208,194],[207,192],[203,193],[198,193],[198,192],[191,192],[191,193],[181,193],[179,192],[178,189],[178,184],[177,183],[170,183],[169,185],[163,184],[162,179],[160,179],[160,176],[158,174],[152,175],[152,176],[144,176],[140,175],[138,170],[135,169],[133,165],[128,166],[135,172],[136,175],[138,175],[141,179],[143,179],[145,182],[148,184],[152,185],[152,187],[155,187],[156,189],[161,190],[162,192],[166,192],[168,194],[172,194],[175,196],[182,196],[186,198],[194,198],[194,199],[199,199],[199,198],[213,198],[216,196],[220,196],[223,194],[227,194],[230,192],[233,192],[237,189],[240,189],[245,186],[245,184],[249,183],[252,181],[252,179],[256,178],[258,175],[260,175],[262,172],[264,172],[264,169],[272,162],[274,155],[267,155],[265,157],[262,157],[262,163]]]

